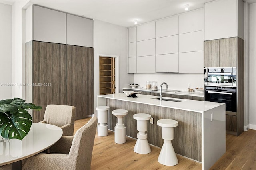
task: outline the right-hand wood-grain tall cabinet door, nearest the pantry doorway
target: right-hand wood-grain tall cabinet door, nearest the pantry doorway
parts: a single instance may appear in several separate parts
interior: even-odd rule
[[[93,48],[66,45],[67,105],[76,107],[76,119],[93,114]]]

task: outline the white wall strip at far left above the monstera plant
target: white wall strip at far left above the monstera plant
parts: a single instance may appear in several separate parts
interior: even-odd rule
[[[12,98],[12,6],[0,3],[0,100]]]

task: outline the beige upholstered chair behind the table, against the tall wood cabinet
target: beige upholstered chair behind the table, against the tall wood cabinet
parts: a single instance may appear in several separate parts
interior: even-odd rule
[[[73,136],[76,107],[66,105],[47,105],[44,120],[38,123],[56,125],[63,130],[63,136]]]

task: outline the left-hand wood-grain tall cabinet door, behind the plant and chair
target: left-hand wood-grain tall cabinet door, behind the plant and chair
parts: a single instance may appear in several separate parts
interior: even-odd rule
[[[33,41],[32,51],[33,103],[42,106],[33,122],[39,122],[47,105],[66,105],[66,45]]]

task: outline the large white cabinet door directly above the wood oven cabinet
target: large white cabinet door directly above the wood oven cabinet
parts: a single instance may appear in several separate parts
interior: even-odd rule
[[[236,37],[236,0],[204,4],[204,40]]]

